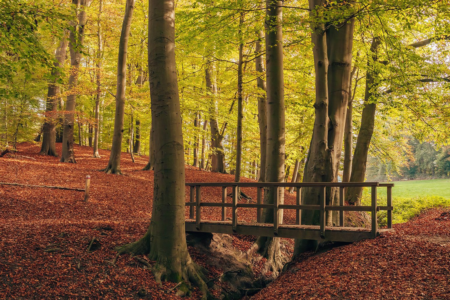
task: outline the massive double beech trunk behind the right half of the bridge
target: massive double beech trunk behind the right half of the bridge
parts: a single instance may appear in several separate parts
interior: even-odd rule
[[[320,22],[325,3],[309,0],[310,16],[319,22],[311,22],[311,40],[314,45],[315,65],[315,121],[310,149],[306,158],[304,182],[336,182],[347,114],[348,91],[351,74],[354,19],[339,26]],[[326,204],[334,200],[334,188],[326,190]],[[317,205],[323,197],[322,188],[302,188],[302,204]],[[331,214],[327,215],[327,221]],[[302,210],[302,224],[317,225],[317,210]],[[328,224],[327,225],[331,225]],[[315,251],[316,240],[297,239],[295,258],[305,251]]]

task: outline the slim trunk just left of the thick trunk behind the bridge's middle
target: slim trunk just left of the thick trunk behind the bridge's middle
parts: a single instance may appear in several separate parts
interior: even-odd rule
[[[260,4],[260,9],[264,8]],[[267,120],[266,120],[266,81],[264,80],[264,56],[262,55],[262,39],[264,38],[264,31],[258,31],[258,39],[256,41],[256,53],[259,55],[255,59],[256,72],[258,73],[257,86],[259,90],[258,96],[258,124],[259,124],[259,140],[260,140],[260,171],[258,181],[264,181],[266,177],[266,145],[267,145]]]

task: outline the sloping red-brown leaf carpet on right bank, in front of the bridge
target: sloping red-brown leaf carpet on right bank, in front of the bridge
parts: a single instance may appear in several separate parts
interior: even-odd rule
[[[450,299],[450,211],[294,262],[256,294],[269,299]]]

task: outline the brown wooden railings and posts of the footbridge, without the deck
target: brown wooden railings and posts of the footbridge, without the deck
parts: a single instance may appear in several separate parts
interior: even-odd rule
[[[295,224],[300,225],[301,210],[319,210],[320,211],[320,236],[325,237],[326,228],[326,211],[339,211],[339,226],[344,227],[344,219],[346,211],[368,211],[371,212],[372,216],[372,228],[371,235],[376,237],[378,234],[378,219],[377,212],[379,210],[387,210],[387,228],[392,228],[392,187],[394,184],[380,184],[378,182],[333,182],[333,183],[267,183],[267,182],[217,182],[217,183],[186,183],[189,186],[190,201],[186,202],[186,206],[189,206],[189,219],[194,219],[194,209],[195,209],[195,224],[196,228],[199,230],[201,224],[201,208],[205,206],[209,207],[221,207],[222,215],[221,220],[226,221],[227,208],[231,208],[231,224],[233,232],[236,232],[238,226],[238,208],[256,208],[257,209],[257,223],[261,223],[262,219],[262,209],[273,209],[274,212],[274,235],[278,235],[279,231],[279,221],[280,221],[280,210],[291,209],[296,210],[296,220]],[[202,202],[201,201],[201,188],[202,187],[221,187],[222,188],[222,201],[221,202]],[[257,188],[257,203],[238,203],[238,188]],[[296,204],[280,204],[279,203],[279,189],[295,187],[297,188],[296,193]],[[339,205],[326,205],[326,188],[338,188],[339,192]],[[371,188],[371,205],[370,206],[350,206],[345,205],[344,195],[345,188],[349,187],[362,187]],[[377,188],[383,187],[387,188],[387,206],[377,205]],[[231,189],[231,203],[226,202],[228,197],[229,188]],[[275,199],[273,204],[263,203],[263,188],[276,188],[278,193],[274,193]],[[302,204],[302,188],[321,188],[321,197],[319,205],[305,205]],[[211,220],[203,220],[211,221]]]

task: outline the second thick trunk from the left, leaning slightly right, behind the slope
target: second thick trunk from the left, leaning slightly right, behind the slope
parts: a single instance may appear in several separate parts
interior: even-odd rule
[[[61,153],[61,162],[76,163],[75,154],[73,152],[73,125],[74,125],[74,112],[76,101],[76,86],[78,85],[78,68],[81,61],[81,48],[83,47],[85,23],[86,23],[86,8],[90,6],[92,0],[72,0],[72,4],[77,6],[80,4],[81,10],[78,14],[78,25],[76,21],[71,21],[72,30],[69,34],[69,49],[70,49],[70,76],[67,81],[68,95],[66,101],[66,111],[64,114],[63,125],[63,151]],[[77,31],[78,29],[78,36]]]

